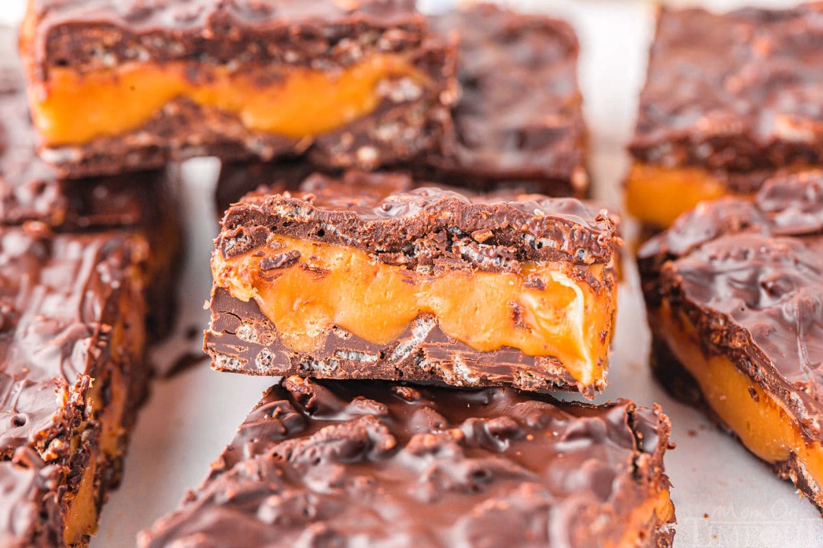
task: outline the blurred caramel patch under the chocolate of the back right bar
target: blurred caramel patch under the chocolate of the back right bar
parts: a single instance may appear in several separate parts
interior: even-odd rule
[[[625,184],[625,207],[643,223],[667,228],[701,201],[729,194],[702,168],[662,168],[635,162]]]

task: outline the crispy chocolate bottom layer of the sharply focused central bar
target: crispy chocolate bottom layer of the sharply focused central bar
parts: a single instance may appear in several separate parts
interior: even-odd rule
[[[241,318],[243,320],[241,320]],[[222,288],[212,294],[212,325],[204,349],[217,371],[248,375],[301,375],[319,379],[380,379],[453,386],[515,386],[529,391],[571,390],[594,394],[553,357],[528,356],[514,348],[479,352],[420,315],[406,332],[379,346],[334,327],[314,352],[293,352],[257,302],[243,302]],[[601,381],[602,384],[602,381]]]

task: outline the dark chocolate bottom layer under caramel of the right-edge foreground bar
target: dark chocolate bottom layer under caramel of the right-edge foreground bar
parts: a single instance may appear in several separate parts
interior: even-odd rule
[[[705,400],[695,377],[692,376],[689,371],[686,371],[686,367],[677,359],[667,343],[657,336],[653,336],[652,338],[651,366],[654,378],[667,389],[669,394],[672,394],[672,397],[700,409],[720,430],[726,432],[728,435],[732,435],[737,441],[741,441],[740,437],[726,425],[723,419],[718,417],[718,414],[714,412],[714,409],[712,409]],[[745,445],[743,446],[746,447]],[[798,462],[796,455],[792,454],[788,460],[778,463],[770,463],[757,457],[756,454],[752,453],[752,455],[760,460],[761,463],[764,463],[765,466],[780,479],[792,481],[794,486],[796,486],[803,495],[806,495],[808,499],[811,500],[811,503],[815,504],[817,509],[823,514],[823,490],[812,486],[811,483],[807,481],[802,463]]]

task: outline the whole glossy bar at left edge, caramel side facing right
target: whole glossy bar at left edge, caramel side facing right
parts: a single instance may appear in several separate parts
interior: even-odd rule
[[[0,228],[3,546],[95,532],[146,391],[147,254],[139,233]]]

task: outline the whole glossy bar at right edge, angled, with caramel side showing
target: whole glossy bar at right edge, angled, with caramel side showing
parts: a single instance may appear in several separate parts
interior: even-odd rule
[[[823,173],[701,203],[639,265],[658,379],[823,510]]]

